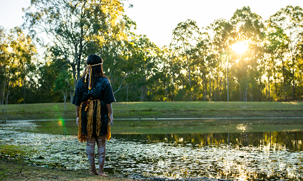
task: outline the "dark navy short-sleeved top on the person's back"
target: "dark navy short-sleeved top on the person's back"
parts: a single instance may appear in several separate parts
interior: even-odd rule
[[[106,105],[116,102],[111,82],[107,77],[95,76],[94,84],[90,90],[83,86],[82,79],[77,82],[73,104],[80,106],[81,103],[90,98],[91,100],[102,100]]]

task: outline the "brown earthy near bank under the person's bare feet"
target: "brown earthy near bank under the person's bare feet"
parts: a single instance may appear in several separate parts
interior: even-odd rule
[[[39,167],[27,165],[22,158],[12,159],[9,157],[0,157],[0,180],[103,180],[103,181],[219,181],[226,179],[216,178],[184,178],[184,179],[167,179],[167,178],[135,178],[138,175],[124,177],[122,175],[109,175],[109,177],[102,177],[88,174],[83,170],[69,170],[58,167]],[[228,180],[226,180],[228,181]]]

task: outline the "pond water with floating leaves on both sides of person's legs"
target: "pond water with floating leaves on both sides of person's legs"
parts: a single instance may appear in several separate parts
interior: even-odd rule
[[[29,164],[89,168],[86,144],[75,135],[35,133],[37,129],[28,121],[1,124],[0,144],[33,147]],[[302,131],[113,134],[107,142],[105,171],[169,178],[302,180],[302,140]]]

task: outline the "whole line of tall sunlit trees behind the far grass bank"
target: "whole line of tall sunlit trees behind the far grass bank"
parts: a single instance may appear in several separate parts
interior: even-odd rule
[[[23,11],[22,27],[0,28],[2,105],[71,102],[90,54],[104,59],[118,102],[303,98],[298,6],[269,20],[249,7],[208,27],[186,20],[164,47],[133,33],[120,0],[34,0]]]

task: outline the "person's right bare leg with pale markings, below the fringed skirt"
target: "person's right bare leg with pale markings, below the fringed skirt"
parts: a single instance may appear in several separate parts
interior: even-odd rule
[[[106,154],[106,140],[105,135],[96,137],[97,147],[98,147],[98,161],[99,161],[99,175],[100,176],[108,176],[104,173],[104,161]]]

